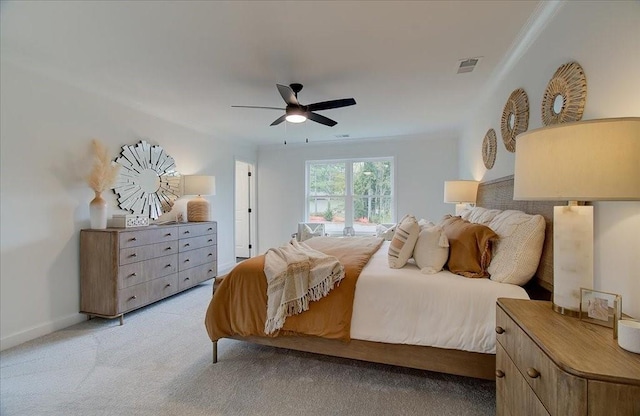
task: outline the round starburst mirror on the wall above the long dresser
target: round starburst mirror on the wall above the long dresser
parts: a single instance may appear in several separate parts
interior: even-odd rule
[[[141,140],[122,146],[120,173],[113,186],[120,209],[158,219],[180,196],[180,173],[162,147]]]

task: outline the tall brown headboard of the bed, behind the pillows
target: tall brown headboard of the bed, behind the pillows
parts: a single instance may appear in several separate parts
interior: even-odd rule
[[[476,205],[479,207],[515,209],[528,214],[540,214],[545,219],[547,226],[540,264],[535,276],[525,287],[532,298],[549,299],[553,292],[553,207],[565,204],[559,201],[514,201],[513,175],[482,182],[478,187]]]

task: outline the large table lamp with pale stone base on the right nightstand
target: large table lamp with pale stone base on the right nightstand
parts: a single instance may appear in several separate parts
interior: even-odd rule
[[[640,200],[640,117],[564,123],[518,135],[513,199],[568,201],[553,212],[553,309],[577,316],[593,288],[593,206]]]

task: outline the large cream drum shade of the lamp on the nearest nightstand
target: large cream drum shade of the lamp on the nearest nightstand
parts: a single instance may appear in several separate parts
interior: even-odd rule
[[[516,140],[516,200],[640,200],[640,117],[554,125]]]

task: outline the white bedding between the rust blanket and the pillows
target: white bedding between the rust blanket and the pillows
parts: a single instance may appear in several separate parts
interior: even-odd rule
[[[382,244],[358,278],[351,338],[495,354],[496,300],[529,299],[527,292],[448,271],[422,274],[413,260],[391,269],[389,244]]]

